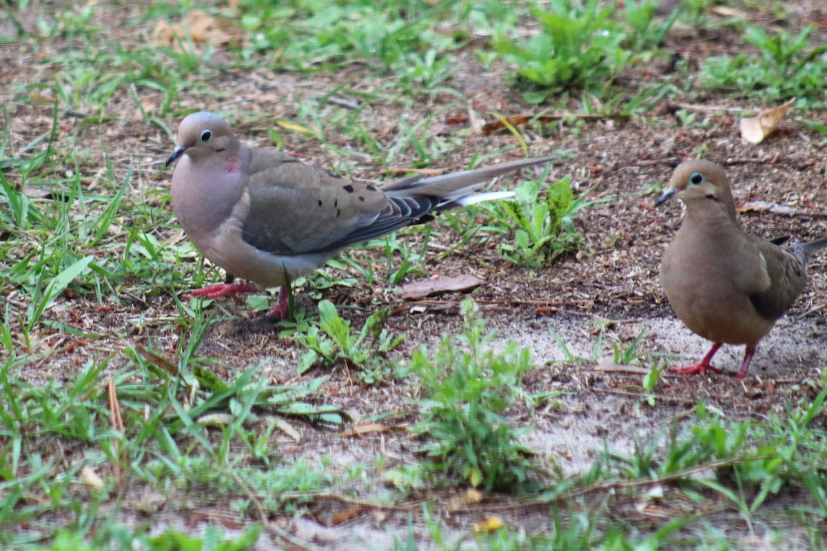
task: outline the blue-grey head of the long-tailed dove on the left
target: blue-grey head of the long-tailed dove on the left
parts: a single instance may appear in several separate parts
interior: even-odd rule
[[[184,117],[178,127],[178,145],[166,159],[166,166],[174,163],[181,155],[187,155],[190,162],[212,154],[237,154],[240,142],[230,125],[215,113],[197,112]]]

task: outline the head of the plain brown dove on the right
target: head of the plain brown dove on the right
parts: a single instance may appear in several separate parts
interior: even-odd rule
[[[732,216],[735,215],[735,202],[729,190],[729,180],[718,164],[710,161],[691,160],[677,165],[672,173],[670,187],[657,197],[655,207],[677,197],[686,204],[687,209],[711,208],[718,205]]]

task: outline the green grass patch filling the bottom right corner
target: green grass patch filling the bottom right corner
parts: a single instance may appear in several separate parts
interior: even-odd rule
[[[789,406],[783,416],[763,422],[725,420],[701,402],[691,430],[675,423],[657,438],[638,442],[633,456],[607,449],[588,472],[558,474],[546,492],[531,500],[533,507],[547,506],[546,524],[534,534],[503,526],[478,534],[477,544],[480,549],[741,549],[734,533],[763,525],[767,520],[757,513],[772,496],[804,491],[823,503],[824,477],[803,473],[824,453],[824,431],[811,424],[822,415],[825,396],[822,390],[812,401]],[[690,530],[702,521],[700,513],[687,511],[710,506],[721,511],[722,504],[731,511],[729,534],[710,525]],[[622,520],[624,510],[648,508],[673,518],[646,531]],[[767,540],[789,549],[809,549],[808,543],[818,549],[821,536],[806,527],[824,518],[824,508],[793,509],[787,522],[801,523],[801,539],[796,542],[767,526]],[[447,538],[437,528],[432,539]],[[410,548],[398,544],[395,549]]]

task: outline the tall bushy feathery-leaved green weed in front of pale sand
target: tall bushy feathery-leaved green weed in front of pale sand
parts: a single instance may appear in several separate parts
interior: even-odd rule
[[[474,302],[466,300],[461,308],[465,330],[442,340],[433,357],[423,346],[411,359],[423,396],[416,432],[426,439],[429,468],[452,483],[515,490],[527,482],[532,466],[517,441],[523,430],[512,428],[503,415],[519,395],[522,374],[533,367],[531,353],[514,343],[495,353],[494,332],[486,332]]]

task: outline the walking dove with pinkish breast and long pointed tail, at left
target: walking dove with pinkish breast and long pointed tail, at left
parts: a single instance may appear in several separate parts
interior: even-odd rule
[[[247,148],[221,116],[197,112],[178,129],[167,159],[172,205],[195,247],[249,283],[220,283],[194,292],[216,298],[281,287],[270,310],[284,317],[289,282],[361,243],[432,217],[430,212],[510,197],[475,193],[491,178],[553,156],[425,178],[400,178],[377,188],[304,164],[271,149]]]

